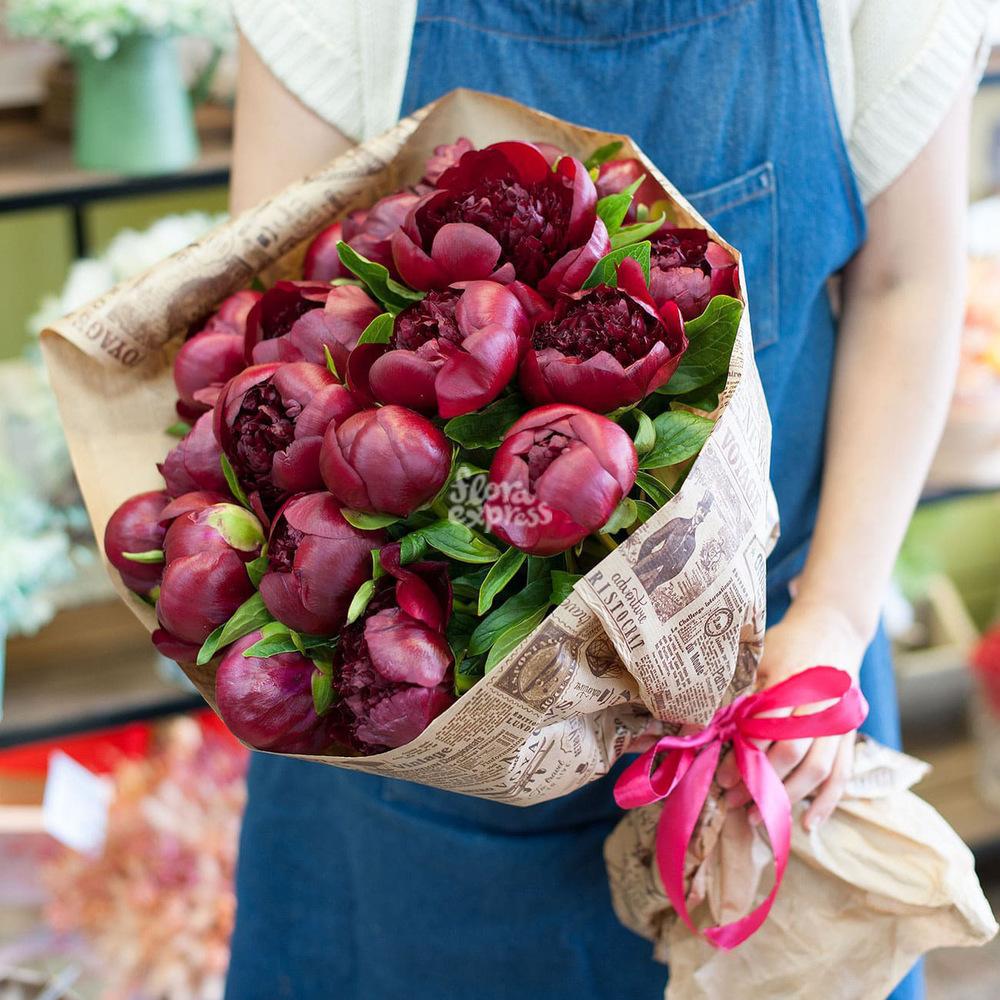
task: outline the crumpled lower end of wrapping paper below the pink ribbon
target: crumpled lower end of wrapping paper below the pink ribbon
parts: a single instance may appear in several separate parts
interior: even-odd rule
[[[924,952],[979,945],[997,931],[972,852],[909,789],[921,761],[862,740],[847,792],[818,830],[793,811],[785,881],[761,928],[717,951],[680,921],[654,860],[658,806],[630,812],[604,856],[618,918],[670,962],[667,1000],[884,1000]],[[698,926],[735,920],[773,885],[771,852],[746,810],[710,801],[686,869]],[[713,852],[713,849],[715,853]]]

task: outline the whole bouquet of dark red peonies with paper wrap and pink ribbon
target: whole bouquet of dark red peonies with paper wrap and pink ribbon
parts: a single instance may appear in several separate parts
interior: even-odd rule
[[[863,709],[830,668],[744,696],[776,512],[740,268],[630,140],[456,91],[42,343],[123,596],[244,742],[518,805],[652,745],[618,788],[617,912],[661,950],[681,926],[707,964],[699,947],[752,933],[801,856],[774,910],[794,926],[718,952],[797,963],[798,989],[797,941],[843,964],[915,927],[905,960],[995,925],[954,834],[906,841],[889,800],[881,840],[859,849],[848,813],[839,841],[802,846],[761,765],[759,885],[745,810],[722,829],[724,746],[752,764],[775,727],[842,732]],[[767,718],[775,698],[842,707]],[[876,770],[902,787],[903,762]],[[801,886],[840,885],[845,855],[861,877],[841,931]],[[946,891],[910,905],[932,863]],[[699,901],[720,870],[741,891],[727,875]],[[753,981],[714,968],[672,989]]]

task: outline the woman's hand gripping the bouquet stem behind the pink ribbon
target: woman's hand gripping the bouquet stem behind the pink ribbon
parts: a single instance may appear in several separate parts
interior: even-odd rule
[[[772,687],[815,666],[838,667],[857,681],[866,647],[866,639],[836,609],[795,601],[781,622],[764,636],[757,687]],[[808,714],[816,708],[804,706],[795,714]],[[813,796],[803,817],[807,830],[823,823],[844,794],[854,761],[856,736],[851,732],[820,739],[784,740],[768,746],[768,760],[784,781],[792,805]],[[723,788],[729,789],[727,805],[738,807],[750,801],[732,753],[720,765],[718,780]],[[750,820],[759,822],[756,806],[751,807]]]

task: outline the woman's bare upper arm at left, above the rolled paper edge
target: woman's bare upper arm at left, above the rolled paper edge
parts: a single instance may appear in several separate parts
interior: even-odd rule
[[[354,145],[307,108],[241,35],[229,209],[235,215]]]

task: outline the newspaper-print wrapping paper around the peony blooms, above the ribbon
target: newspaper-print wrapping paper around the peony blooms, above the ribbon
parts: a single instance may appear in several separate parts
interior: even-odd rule
[[[582,157],[622,139],[619,155],[643,160],[676,221],[710,229],[627,138],[453,92],[45,332],[98,537],[123,500],[160,488],[154,462],[170,446],[171,362],[188,326],[254,275],[292,273],[319,230],[417,180],[433,148],[458,136],[478,146],[543,140]],[[657,720],[706,721],[745,689],[763,638],[764,565],[777,532],[770,422],[746,309],[720,404],[678,495],[420,737],[372,757],[310,759],[527,805],[605,774],[638,735],[661,728]],[[112,577],[153,629],[152,609]],[[214,704],[212,666],[185,669]]]

